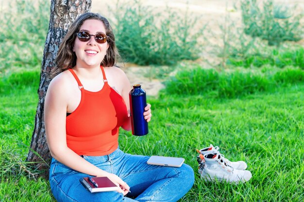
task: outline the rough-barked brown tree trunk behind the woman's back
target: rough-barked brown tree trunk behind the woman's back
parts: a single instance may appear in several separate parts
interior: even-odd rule
[[[69,25],[78,16],[88,12],[90,7],[91,0],[51,0],[49,32],[44,46],[38,89],[39,101],[35,116],[31,149],[27,157],[27,161],[35,162],[33,164],[35,169],[42,171],[41,174],[39,174],[42,177],[48,178],[51,161],[43,118],[45,95],[51,81],[49,73],[55,65],[54,60],[57,55],[58,47],[68,31]]]

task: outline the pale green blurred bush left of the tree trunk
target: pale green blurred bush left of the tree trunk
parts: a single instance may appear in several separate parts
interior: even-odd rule
[[[14,0],[0,16],[0,72],[41,65],[50,2]]]

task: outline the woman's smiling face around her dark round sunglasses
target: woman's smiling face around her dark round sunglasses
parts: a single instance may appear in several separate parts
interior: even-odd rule
[[[101,32],[106,34],[103,22],[96,19],[85,20],[80,27],[79,32],[81,31],[86,31],[89,34],[94,35]],[[82,42],[78,39],[78,37],[76,37],[73,47],[73,51],[77,57],[76,66],[99,67],[108,47],[108,42],[99,44],[95,41],[94,36],[91,36],[87,42]]]

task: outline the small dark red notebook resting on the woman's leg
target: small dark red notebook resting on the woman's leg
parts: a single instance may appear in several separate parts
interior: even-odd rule
[[[101,191],[115,191],[119,188],[108,177],[92,177],[92,179],[97,183],[97,187],[94,186],[87,177],[83,177],[79,180],[81,184],[83,184],[83,186],[92,193]]]

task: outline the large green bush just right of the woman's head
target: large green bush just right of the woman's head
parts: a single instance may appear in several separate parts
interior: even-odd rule
[[[196,19],[190,18],[188,12],[179,16],[168,9],[168,16],[164,17],[136,0],[117,4],[116,11],[112,24],[118,50],[127,62],[172,65],[199,57],[202,29],[194,29]]]

